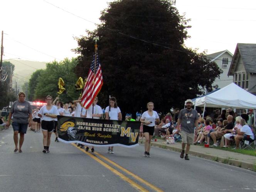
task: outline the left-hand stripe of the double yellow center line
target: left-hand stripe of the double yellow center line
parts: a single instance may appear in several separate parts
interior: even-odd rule
[[[118,175],[119,177],[121,177],[121,179],[125,180],[126,182],[128,182],[131,186],[133,186],[135,189],[139,190],[139,191],[143,191],[143,192],[148,192],[147,189],[141,187],[140,185],[136,184],[133,180],[129,179],[128,177],[126,177],[125,175],[123,175],[122,173],[120,173],[118,170],[114,169],[113,167],[110,167],[108,164],[106,164],[105,162],[101,161],[98,157],[93,156],[92,154],[90,154],[89,152],[84,151],[83,149],[81,149],[80,147],[77,147],[76,144],[72,143],[72,146],[76,147],[77,149],[79,149],[80,151],[84,152],[85,154],[87,154],[88,156],[90,156],[91,158],[93,158],[95,161],[99,162],[101,165],[103,165],[104,167],[106,167],[107,169],[111,170],[113,173],[115,173],[116,175]]]

